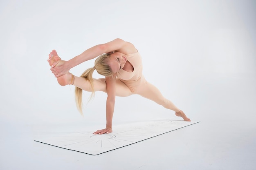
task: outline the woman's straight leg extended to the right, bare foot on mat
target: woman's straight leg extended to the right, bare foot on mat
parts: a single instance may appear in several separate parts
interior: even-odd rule
[[[150,99],[157,104],[164,106],[165,108],[175,111],[176,116],[182,117],[185,121],[191,121],[186,117],[182,110],[177,108],[170,100],[164,98],[162,93],[154,85],[148,82],[144,85],[141,85],[137,90],[137,94]]]

